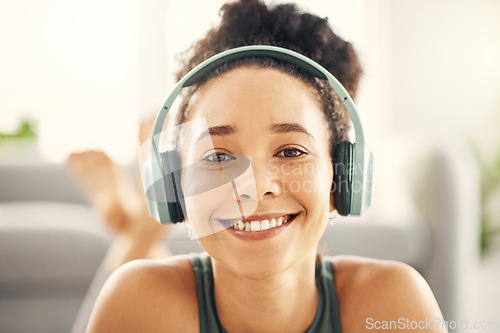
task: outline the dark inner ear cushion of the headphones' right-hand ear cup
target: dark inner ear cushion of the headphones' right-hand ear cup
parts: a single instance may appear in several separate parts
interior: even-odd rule
[[[349,141],[337,144],[333,152],[332,191],[335,208],[340,215],[351,213],[354,145]]]

